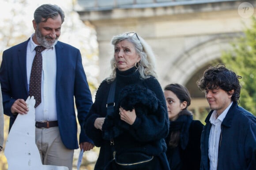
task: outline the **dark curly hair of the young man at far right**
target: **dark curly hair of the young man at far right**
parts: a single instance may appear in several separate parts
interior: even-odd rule
[[[220,63],[214,67],[210,66],[205,70],[203,77],[196,83],[202,92],[205,92],[206,89],[212,90],[219,87],[232,95],[232,101],[237,101],[239,103],[241,85],[238,79],[241,78],[241,76],[238,76],[235,72],[226,69],[225,65]],[[233,94],[230,93],[231,90],[234,90]]]

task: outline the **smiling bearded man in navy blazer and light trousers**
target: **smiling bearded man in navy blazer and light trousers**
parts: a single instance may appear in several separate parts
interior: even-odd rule
[[[94,147],[83,128],[78,145],[75,113],[76,106],[83,127],[92,98],[79,49],[58,41],[63,22],[64,12],[60,7],[51,4],[38,7],[33,20],[35,33],[29,40],[4,51],[0,83],[4,114],[10,116],[11,128],[17,114],[26,114],[29,109],[25,100],[29,96],[35,47],[45,47],[41,52],[41,103],[35,108],[36,144],[43,164],[72,170],[74,149],[79,145],[84,151]]]

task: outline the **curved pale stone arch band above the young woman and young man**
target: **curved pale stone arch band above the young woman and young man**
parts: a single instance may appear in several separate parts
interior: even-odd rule
[[[239,36],[241,33],[194,37],[191,47],[175,56],[172,63],[168,62],[169,69],[163,74],[162,83],[186,85],[198,70],[219,59],[222,51],[230,50],[231,40]]]

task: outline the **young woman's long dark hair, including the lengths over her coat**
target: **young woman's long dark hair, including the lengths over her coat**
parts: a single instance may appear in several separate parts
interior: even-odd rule
[[[170,90],[172,91],[177,98],[182,103],[183,101],[187,101],[187,106],[184,108],[181,112],[179,112],[179,116],[181,115],[188,115],[191,116],[192,113],[187,110],[188,106],[191,104],[191,97],[188,92],[188,89],[186,87],[183,87],[181,84],[175,83],[175,84],[169,84],[167,85],[164,90]],[[181,130],[173,130],[169,137],[169,146],[172,148],[175,148],[179,145],[180,142],[180,134]]]

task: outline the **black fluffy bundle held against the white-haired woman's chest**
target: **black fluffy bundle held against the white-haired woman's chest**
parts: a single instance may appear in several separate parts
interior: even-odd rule
[[[102,127],[104,139],[117,137],[124,131],[129,132],[129,128],[131,128],[128,123],[120,119],[120,106],[125,110],[135,109],[137,117],[147,119],[147,115],[155,114],[160,105],[160,101],[153,91],[137,84],[124,87],[116,101],[118,105],[114,112],[105,117]]]

